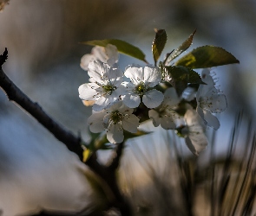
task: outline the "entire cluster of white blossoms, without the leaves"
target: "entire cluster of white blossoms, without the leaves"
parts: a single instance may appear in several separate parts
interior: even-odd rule
[[[89,83],[79,86],[79,97],[94,104],[89,130],[106,130],[110,143],[121,143],[123,130],[138,130],[141,119],[135,112],[142,109],[155,127],[176,130],[185,138],[188,149],[199,155],[207,146],[206,127],[220,127],[213,113],[226,109],[226,97],[215,87],[210,70],[201,73],[202,84],[197,90],[178,96],[174,87],[161,87],[164,80],[160,67],[130,65],[123,72],[117,61],[117,48],[111,44],[106,48],[96,46],[92,54],[82,57],[81,67],[88,71]],[[192,100],[196,107],[190,104]],[[179,111],[181,104],[183,113]]]

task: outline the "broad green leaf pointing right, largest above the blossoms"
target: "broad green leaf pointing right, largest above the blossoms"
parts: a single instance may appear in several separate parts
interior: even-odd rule
[[[190,68],[217,67],[228,64],[240,63],[233,54],[228,53],[224,48],[203,46],[195,48],[192,52],[178,60],[176,66]]]

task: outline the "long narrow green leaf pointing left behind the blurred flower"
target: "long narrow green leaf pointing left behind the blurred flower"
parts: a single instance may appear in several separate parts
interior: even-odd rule
[[[126,41],[121,41],[118,39],[105,39],[105,40],[95,40],[95,41],[84,41],[82,43],[91,45],[91,46],[100,46],[104,48],[110,43],[112,45],[115,45],[119,53],[127,54],[129,56],[134,57],[135,59],[143,60],[146,63],[148,63],[148,61],[145,60],[146,55],[142,53],[141,49],[136,48],[134,45],[131,45]]]

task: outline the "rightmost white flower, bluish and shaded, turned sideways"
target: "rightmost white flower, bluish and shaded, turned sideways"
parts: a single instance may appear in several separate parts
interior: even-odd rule
[[[215,88],[208,69],[203,70],[201,77],[207,85],[200,85],[198,89],[196,111],[204,119],[205,124],[217,130],[220,128],[220,122],[212,113],[220,113],[226,110],[226,96]]]

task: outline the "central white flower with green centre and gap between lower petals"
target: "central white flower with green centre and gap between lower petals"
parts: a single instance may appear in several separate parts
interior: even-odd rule
[[[163,100],[162,92],[150,88],[156,86],[161,81],[161,72],[158,67],[127,67],[124,75],[128,77],[130,82],[123,82],[126,93],[122,97],[123,103],[130,108],[138,107],[142,102],[148,108],[154,108],[161,105]]]

